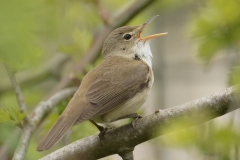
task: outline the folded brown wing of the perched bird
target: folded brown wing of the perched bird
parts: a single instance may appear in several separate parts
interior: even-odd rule
[[[102,75],[96,77],[86,92],[90,104],[78,122],[102,115],[132,98],[148,85],[149,67],[140,60],[107,59]]]

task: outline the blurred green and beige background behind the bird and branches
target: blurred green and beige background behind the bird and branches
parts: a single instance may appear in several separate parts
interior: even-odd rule
[[[6,159],[11,159],[18,142],[19,137],[10,134],[16,131],[16,125],[49,94],[61,77],[69,74],[91,46],[96,31],[104,25],[100,8],[106,11],[106,16],[111,16],[131,2],[134,1],[0,0],[0,151],[13,139]],[[239,8],[239,0],[156,0],[130,21],[128,25],[138,25],[158,14],[159,18],[143,35],[169,33],[151,43],[155,84],[141,114],[173,107],[240,83]],[[100,61],[101,57],[87,64],[85,73]],[[19,112],[4,64],[16,72],[27,105],[26,114]],[[80,80],[83,75],[79,73],[76,77]],[[79,81],[71,85],[78,86]],[[26,160],[38,159],[98,132],[92,124],[84,122],[72,127],[51,150],[36,152],[40,138],[67,103],[68,100],[56,106],[34,132]],[[135,149],[135,159],[240,159],[238,113],[141,144]],[[169,128],[179,125],[181,122]]]

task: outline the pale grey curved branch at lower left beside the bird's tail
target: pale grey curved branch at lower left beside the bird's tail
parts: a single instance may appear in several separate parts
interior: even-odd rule
[[[24,160],[31,136],[43,116],[62,100],[72,96],[77,88],[68,88],[57,92],[48,100],[41,102],[25,119],[22,135],[14,152],[13,160]]]

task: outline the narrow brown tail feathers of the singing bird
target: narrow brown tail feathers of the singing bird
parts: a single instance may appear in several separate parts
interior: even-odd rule
[[[41,139],[37,151],[47,150],[56,144],[67,132],[67,130],[74,125],[75,119],[61,116],[49,132]]]

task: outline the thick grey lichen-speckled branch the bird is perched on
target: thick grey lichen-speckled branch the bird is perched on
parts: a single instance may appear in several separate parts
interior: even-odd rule
[[[92,135],[69,144],[40,160],[94,160],[122,151],[172,131],[198,125],[240,108],[240,88],[233,86],[211,96],[173,108],[159,110],[133,123],[109,130],[103,145],[98,135]],[[186,123],[178,129],[164,130],[179,121]]]

